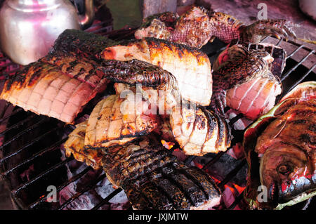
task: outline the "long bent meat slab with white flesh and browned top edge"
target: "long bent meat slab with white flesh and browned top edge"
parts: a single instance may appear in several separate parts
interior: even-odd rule
[[[137,59],[158,65],[176,77],[183,98],[204,106],[211,102],[211,64],[207,55],[196,48],[145,38],[105,48],[100,57],[121,61]]]

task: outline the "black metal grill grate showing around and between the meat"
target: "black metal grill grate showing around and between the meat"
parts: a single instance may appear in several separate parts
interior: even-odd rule
[[[135,29],[121,29],[114,32],[104,32],[103,29],[100,29],[93,32],[103,34],[107,37],[110,37],[111,39],[126,39],[131,37],[134,31]],[[265,41],[266,39],[267,38],[263,39],[263,41]],[[279,45],[281,42],[282,40],[278,41],[277,45]],[[285,67],[282,77],[280,78],[282,84],[284,85],[283,95],[294,88],[294,86],[296,86],[298,83],[310,79],[315,79],[315,72],[313,72],[315,64],[309,68],[306,68],[302,65],[302,63],[310,58],[311,55],[315,57],[315,51],[312,51],[305,46],[298,45],[293,41],[289,41],[289,43],[296,46],[296,49],[287,56],[287,67]],[[214,48],[213,46],[216,47]],[[216,56],[218,53],[220,53],[220,51],[223,50],[223,47],[223,43],[218,42],[216,44],[215,41],[212,44],[211,51],[207,52],[209,57],[212,58]],[[296,55],[296,53],[303,50],[308,51],[308,54],[305,55],[302,60],[298,62],[291,60],[291,58]],[[0,70],[5,71],[4,73],[14,73],[19,68],[19,66],[14,65],[14,63],[10,62],[7,58],[1,58],[0,63],[1,62],[2,64],[0,64]],[[13,68],[9,70],[8,66],[13,66]],[[294,77],[296,78],[294,79]],[[98,98],[96,98],[96,100],[97,99]],[[81,112],[81,114],[79,114],[79,118],[84,114],[89,114],[89,112],[91,112],[93,106],[97,103],[96,100],[91,100],[92,102],[88,103],[88,105],[84,109],[84,112]],[[16,202],[16,204],[18,204],[20,209],[45,208],[46,196],[48,195],[46,190],[44,190],[43,187],[37,187],[38,189],[41,189],[41,191],[29,192],[29,189],[34,187],[34,185],[41,185],[41,181],[45,179],[52,178],[54,175],[59,175],[58,171],[60,171],[60,169],[62,169],[62,167],[64,167],[66,164],[72,162],[74,160],[73,157],[69,157],[58,162],[51,162],[46,166],[41,167],[41,169],[39,169],[39,173],[36,173],[36,175],[29,178],[27,181],[21,181],[21,183],[13,183],[12,178],[14,176],[17,176],[18,173],[20,173],[20,171],[22,171],[26,167],[34,164],[35,161],[44,160],[47,158],[47,155],[57,153],[58,149],[60,149],[60,145],[62,145],[62,143],[65,143],[65,140],[67,140],[67,135],[65,136],[65,133],[70,133],[70,131],[74,129],[74,126],[66,126],[64,123],[55,119],[44,116],[37,116],[35,114],[32,114],[32,112],[25,112],[24,110],[22,110],[22,108],[13,107],[13,105],[11,105],[10,103],[3,103],[3,107],[3,110],[0,110],[0,127],[1,124],[6,125],[6,123],[8,122],[10,123],[10,126],[7,126],[6,129],[0,133],[0,138],[4,138],[4,142],[0,146],[1,176],[7,181],[8,185],[10,186],[13,200]],[[237,117],[234,117],[230,120],[230,124],[235,124],[235,122],[241,118],[242,115],[237,115]],[[46,129],[43,129],[44,126],[46,126]],[[34,132],[39,132],[39,134],[34,134],[33,136]],[[235,136],[235,138],[233,138],[232,140],[232,145],[234,145],[234,143],[242,141],[243,133],[244,130],[232,130],[232,134],[233,136]],[[48,135],[50,136],[50,138],[52,138],[51,136],[53,136],[54,138],[51,142],[45,142]],[[21,140],[21,138],[25,138],[25,136],[32,136],[32,138],[25,142],[25,140]],[[44,143],[42,143],[43,140]],[[18,147],[15,147],[16,143],[19,143]],[[30,148],[36,147],[37,144],[41,145],[41,147],[37,150],[33,150],[34,152],[29,152]],[[214,155],[212,159],[209,160],[209,162],[204,164],[202,169],[206,170],[210,166],[213,166],[213,164],[216,164],[220,157],[223,157],[225,153],[226,152],[219,152],[218,154]],[[194,159],[196,159],[195,156],[187,157],[187,159],[185,159],[185,164],[191,164]],[[246,166],[246,159],[237,160],[232,166],[233,169],[225,176],[223,180],[220,181],[219,187],[223,189],[225,184],[228,183],[234,176],[236,176],[236,174],[242,168],[244,168],[244,166]],[[70,179],[60,178],[60,181],[59,179],[58,181],[55,180],[56,183],[54,184],[57,186],[58,192],[60,192],[60,190],[62,190],[67,185],[70,185],[71,183],[79,180],[91,170],[92,168],[88,166],[86,167],[86,169],[77,173],[77,175],[72,176],[72,178]],[[67,201],[63,204],[55,205],[53,207],[50,207],[49,209],[65,209],[69,204],[74,202],[74,200],[79,198],[81,195],[84,195],[89,190],[93,189],[96,184],[100,183],[100,181],[105,178],[106,176],[104,173],[101,173],[96,178],[91,178],[89,183],[87,183],[81,190],[79,190],[77,194],[70,197],[70,199],[67,199]],[[93,210],[100,209],[105,204],[108,204],[110,199],[119,194],[119,192],[121,192],[120,188],[114,190],[112,193],[110,193],[110,195],[107,195],[107,197],[100,199],[100,202],[98,202],[98,204],[94,206]],[[25,199],[25,194],[33,195],[34,199]],[[233,202],[228,208],[225,209],[234,209],[235,206],[242,202],[242,199],[242,194],[240,194],[235,198],[235,202]],[[310,200],[306,202],[303,209],[305,209],[305,207],[307,207],[309,203]]]

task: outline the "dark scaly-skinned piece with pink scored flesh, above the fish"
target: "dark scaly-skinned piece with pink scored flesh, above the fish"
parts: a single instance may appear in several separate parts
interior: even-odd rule
[[[241,45],[220,53],[213,67],[213,108],[225,116],[228,106],[249,119],[268,112],[281,93],[279,80],[270,72],[272,60],[266,51]]]

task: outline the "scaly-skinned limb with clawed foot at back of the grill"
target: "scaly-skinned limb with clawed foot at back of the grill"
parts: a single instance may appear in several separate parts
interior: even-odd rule
[[[135,32],[135,37],[155,37],[202,48],[214,37],[225,43],[230,43],[233,39],[244,43],[258,43],[264,36],[269,35],[295,38],[292,27],[297,25],[286,20],[258,20],[251,25],[244,25],[231,15],[195,6],[180,17],[166,12],[145,18],[143,25]]]

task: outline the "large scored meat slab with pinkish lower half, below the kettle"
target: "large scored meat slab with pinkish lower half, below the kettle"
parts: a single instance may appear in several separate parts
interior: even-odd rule
[[[96,70],[100,53],[114,41],[96,34],[67,29],[46,57],[8,77],[0,98],[37,114],[72,123],[107,79]]]

